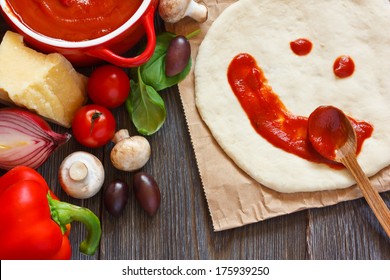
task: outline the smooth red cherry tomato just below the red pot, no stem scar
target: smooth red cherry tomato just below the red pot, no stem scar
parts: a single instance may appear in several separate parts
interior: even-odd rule
[[[130,79],[119,67],[100,66],[89,77],[87,92],[93,103],[112,109],[126,101],[130,93]]]

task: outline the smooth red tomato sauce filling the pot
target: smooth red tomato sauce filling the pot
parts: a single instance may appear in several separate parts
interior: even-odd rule
[[[21,22],[66,41],[101,37],[125,23],[142,0],[7,0]]]

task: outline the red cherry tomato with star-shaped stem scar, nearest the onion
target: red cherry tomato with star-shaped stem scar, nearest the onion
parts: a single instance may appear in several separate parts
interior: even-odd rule
[[[90,148],[107,144],[115,130],[116,122],[112,113],[96,104],[81,107],[72,122],[73,136],[81,145]]]

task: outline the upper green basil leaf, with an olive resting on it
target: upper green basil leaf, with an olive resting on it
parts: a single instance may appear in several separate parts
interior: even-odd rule
[[[165,75],[165,57],[169,43],[176,35],[164,32],[156,37],[156,48],[153,56],[148,62],[140,66],[142,80],[145,84],[152,86],[156,91],[160,91],[178,84],[188,75],[192,66],[190,58],[186,68],[173,77]]]

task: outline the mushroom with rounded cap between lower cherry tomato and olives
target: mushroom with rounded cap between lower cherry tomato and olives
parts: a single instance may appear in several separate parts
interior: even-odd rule
[[[121,129],[114,135],[115,143],[111,150],[112,164],[119,170],[134,171],[143,167],[149,160],[151,149],[148,140],[142,136],[129,136],[127,129]]]

